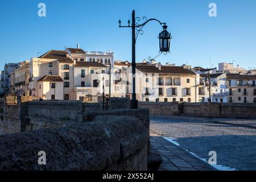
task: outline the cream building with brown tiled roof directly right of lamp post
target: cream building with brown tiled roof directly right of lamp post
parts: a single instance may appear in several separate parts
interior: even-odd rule
[[[136,95],[139,101],[195,102],[196,73],[183,67],[141,64],[136,67]],[[132,82],[131,67],[127,69]],[[131,96],[132,87],[128,86]]]

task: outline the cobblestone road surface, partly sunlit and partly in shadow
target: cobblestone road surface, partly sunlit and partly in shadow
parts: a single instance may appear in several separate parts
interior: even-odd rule
[[[216,151],[222,169],[256,170],[256,129],[161,117],[151,118],[150,129],[201,159]]]

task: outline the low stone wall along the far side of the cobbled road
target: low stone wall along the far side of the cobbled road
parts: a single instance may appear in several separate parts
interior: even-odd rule
[[[189,103],[189,102],[139,102],[151,115],[192,115],[224,118],[256,118],[256,104]]]

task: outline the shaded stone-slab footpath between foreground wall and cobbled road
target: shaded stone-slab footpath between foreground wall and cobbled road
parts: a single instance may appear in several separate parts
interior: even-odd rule
[[[168,140],[151,132],[150,134],[151,146],[163,158],[160,171],[212,171],[214,168],[209,164],[204,163],[200,159],[195,158],[181,148],[175,146]]]

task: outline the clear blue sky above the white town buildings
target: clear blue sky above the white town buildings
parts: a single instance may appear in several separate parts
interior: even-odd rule
[[[46,17],[38,16],[40,2],[46,3]],[[211,2],[217,4],[217,17],[208,15]],[[77,43],[87,51],[111,48],[115,59],[130,61],[131,30],[118,28],[118,20],[125,25],[133,9],[137,16],[168,25],[171,53],[159,56],[158,62],[207,68],[234,61],[244,68],[256,67],[255,0],[2,0],[0,67]],[[144,27],[137,41],[137,62],[158,55],[160,31],[156,22]]]

